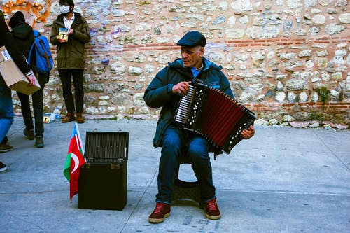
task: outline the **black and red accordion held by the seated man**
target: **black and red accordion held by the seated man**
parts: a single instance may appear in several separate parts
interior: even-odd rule
[[[220,90],[202,83],[190,84],[174,117],[176,125],[197,132],[215,148],[230,153],[241,132],[253,124],[255,114]]]

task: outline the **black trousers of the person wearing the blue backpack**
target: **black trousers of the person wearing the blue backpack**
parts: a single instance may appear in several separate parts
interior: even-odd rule
[[[31,94],[31,101],[33,103],[34,120],[35,120],[35,134],[36,136],[43,135],[43,89],[45,84],[41,84],[41,89]],[[27,130],[34,129],[33,118],[31,116],[30,101],[27,94],[17,92],[18,98],[21,102],[21,109],[25,127]]]

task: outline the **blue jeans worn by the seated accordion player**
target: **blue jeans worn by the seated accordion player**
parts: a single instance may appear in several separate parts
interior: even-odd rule
[[[162,155],[159,162],[156,202],[167,204],[172,202],[174,179],[181,151],[187,151],[186,156],[190,157],[193,171],[200,185],[202,202],[215,197],[215,187],[213,185],[211,162],[208,153],[209,147],[209,142],[199,134],[186,132],[174,125],[167,127],[163,137]]]

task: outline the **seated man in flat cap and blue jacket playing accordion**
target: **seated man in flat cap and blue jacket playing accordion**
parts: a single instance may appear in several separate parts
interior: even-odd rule
[[[170,215],[173,183],[178,167],[178,157],[183,148],[188,152],[193,171],[200,185],[200,195],[205,216],[211,220],[221,218],[216,202],[215,186],[211,172],[209,149],[211,144],[200,134],[189,132],[174,124],[174,115],[181,96],[186,95],[189,84],[200,80],[205,85],[217,88],[234,99],[230,83],[222,67],[204,57],[206,38],[199,31],[189,31],[177,43],[181,46],[181,59],[176,59],[159,71],[144,94],[151,108],[162,108],[153,146],[162,147],[156,206],[149,216],[150,223],[162,223]],[[255,134],[253,125],[244,129],[241,136],[249,139]]]

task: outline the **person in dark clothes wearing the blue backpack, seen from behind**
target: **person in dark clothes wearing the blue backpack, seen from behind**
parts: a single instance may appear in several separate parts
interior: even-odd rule
[[[8,24],[12,29],[11,33],[13,35],[15,44],[18,45],[18,48],[23,53],[23,55],[25,55],[27,60],[30,60],[30,64],[35,67],[36,66],[35,52],[31,52],[31,56],[29,57],[31,47],[34,44],[35,36],[34,36],[34,31],[32,27],[29,26],[27,22],[25,22],[25,15],[23,15],[21,11],[17,11],[10,18],[10,21],[8,22]],[[37,148],[44,147],[43,89],[45,87],[45,84],[48,83],[49,77],[50,77],[50,72],[38,73],[38,82],[41,85],[41,89],[31,94],[31,101],[32,101],[33,110],[34,110],[35,130],[34,130],[33,118],[31,115],[29,96],[27,94],[22,94],[20,92],[17,92],[21,102],[23,120],[25,121],[25,129],[23,133],[25,134],[25,136],[27,136],[27,139],[29,140],[35,139],[34,145]]]

